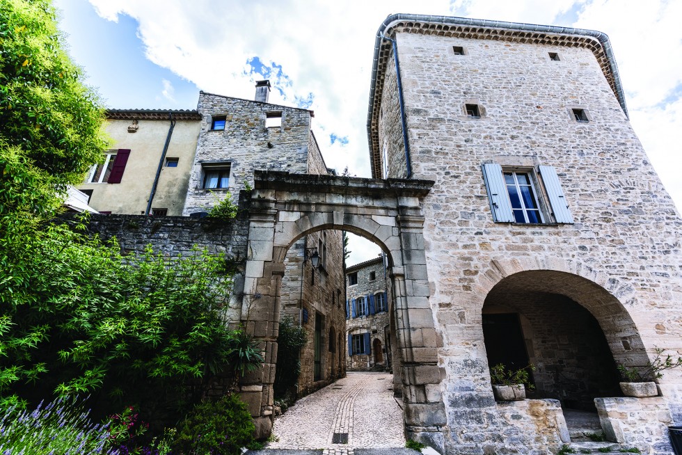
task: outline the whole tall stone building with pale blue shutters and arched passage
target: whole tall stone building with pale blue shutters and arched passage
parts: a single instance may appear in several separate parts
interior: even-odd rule
[[[608,440],[671,453],[682,372],[637,399],[616,365],[682,353],[682,221],[628,121],[608,37],[419,15],[377,37],[373,176],[435,182],[421,208],[445,452],[556,451],[573,408],[598,412]],[[495,401],[498,362],[532,362],[537,392]]]

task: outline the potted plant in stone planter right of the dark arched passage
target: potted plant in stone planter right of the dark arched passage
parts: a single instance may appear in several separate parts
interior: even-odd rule
[[[654,348],[656,349],[656,357],[653,358],[653,362],[647,362],[644,367],[618,365],[618,371],[623,379],[620,386],[626,397],[656,397],[658,389],[654,381],[663,377],[661,372],[665,369],[682,366],[682,357],[678,357],[676,360],[669,354],[663,357],[663,349],[656,346]]]

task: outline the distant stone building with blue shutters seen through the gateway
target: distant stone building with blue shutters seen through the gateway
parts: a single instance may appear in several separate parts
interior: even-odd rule
[[[349,370],[390,370],[391,342],[386,259],[346,269],[346,365]]]

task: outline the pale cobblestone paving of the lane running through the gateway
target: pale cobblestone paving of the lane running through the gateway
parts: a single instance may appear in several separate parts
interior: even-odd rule
[[[356,448],[404,447],[402,410],[392,387],[391,374],[349,372],[276,417],[273,434],[278,440],[266,448],[353,455]],[[333,444],[334,433],[348,433],[348,443]]]

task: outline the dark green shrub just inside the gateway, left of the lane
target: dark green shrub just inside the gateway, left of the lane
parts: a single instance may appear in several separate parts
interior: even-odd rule
[[[296,386],[301,374],[301,360],[299,353],[308,342],[306,329],[294,324],[291,317],[280,322],[277,336],[277,365],[275,383],[273,385],[275,397],[283,398],[287,390]]]

